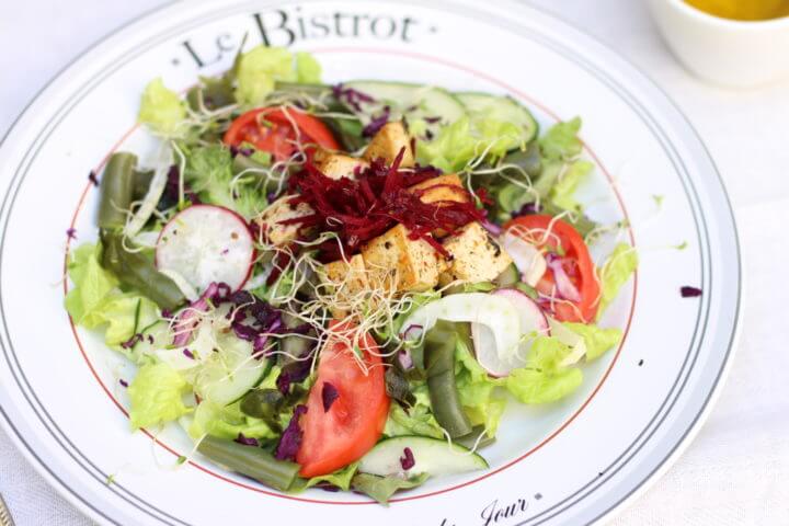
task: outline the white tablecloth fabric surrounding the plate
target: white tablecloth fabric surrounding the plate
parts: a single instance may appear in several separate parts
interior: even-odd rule
[[[38,89],[90,44],[165,0],[0,2],[0,135]],[[736,210],[745,321],[709,421],[666,476],[613,524],[789,525],[789,81],[728,91],[685,72],[642,2],[533,0],[615,47],[658,81],[697,127]],[[787,53],[776,49],[775,53]],[[19,526],[91,524],[0,432],[0,493]]]

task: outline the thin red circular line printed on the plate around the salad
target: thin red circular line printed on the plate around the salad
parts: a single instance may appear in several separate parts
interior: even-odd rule
[[[502,81],[502,80],[499,80],[499,79],[496,79],[496,78],[494,78],[494,77],[491,77],[490,75],[484,73],[484,72],[482,72],[482,71],[478,71],[478,70],[472,69],[472,68],[469,68],[468,66],[465,66],[465,65],[462,65],[462,64],[454,62],[454,61],[451,61],[451,60],[447,60],[447,59],[444,59],[444,58],[433,57],[433,56],[430,56],[430,55],[424,55],[424,54],[420,54],[420,53],[412,53],[412,52],[399,52],[399,50],[395,50],[395,49],[378,49],[378,48],[358,48],[358,47],[332,47],[332,48],[321,48],[321,49],[316,49],[316,50],[313,50],[312,53],[316,53],[316,54],[325,53],[325,54],[376,54],[376,55],[395,55],[395,56],[408,57],[408,58],[413,58],[413,59],[416,59],[416,60],[423,60],[423,61],[427,61],[427,62],[433,62],[433,64],[439,64],[439,65],[447,66],[447,67],[453,68],[453,69],[457,69],[457,70],[460,70],[460,71],[465,71],[465,72],[467,72],[467,73],[469,73],[469,75],[471,75],[471,76],[473,76],[473,77],[481,78],[481,79],[484,79],[484,80],[487,80],[487,81],[489,81],[489,82],[492,82],[492,83],[494,83],[494,84],[503,88],[504,90],[506,90],[506,91],[508,91],[508,92],[511,92],[511,93],[515,93],[515,94],[518,95],[521,99],[524,99],[524,100],[528,101],[528,102],[529,102],[530,104],[533,104],[534,106],[539,107],[540,111],[542,111],[542,112],[546,113],[547,115],[550,115],[551,118],[553,118],[553,119],[556,119],[556,121],[560,121],[560,117],[559,117],[554,112],[550,111],[550,110],[549,110],[548,107],[546,107],[542,103],[540,103],[539,101],[536,101],[534,98],[531,98],[531,96],[529,96],[528,94],[524,93],[523,91],[514,88],[513,85],[511,85],[511,84],[508,84],[508,83],[506,83],[506,82],[504,82],[504,81]],[[128,137],[129,137],[134,132],[137,130],[138,127],[139,127],[139,125],[135,125],[135,126],[132,127],[128,132],[126,132],[126,134],[124,134],[124,136],[112,147],[112,149],[110,150],[110,152],[107,152],[107,155],[104,156],[104,158],[102,159],[102,161],[96,165],[96,168],[94,169],[94,172],[95,172],[95,173],[99,173],[99,172],[101,171],[101,169],[104,167],[104,164],[106,164],[107,160],[110,159],[110,156],[112,156],[112,155],[115,152],[115,150],[117,150],[117,148],[121,147],[121,145],[123,145],[123,142],[126,141],[126,139],[128,139]],[[634,235],[633,235],[633,231],[632,231],[632,227],[630,227],[630,221],[629,221],[627,208],[625,207],[625,202],[622,201],[622,197],[621,197],[621,195],[620,195],[620,193],[619,193],[619,188],[617,187],[616,183],[614,182],[614,179],[611,178],[610,173],[609,173],[608,170],[606,169],[605,164],[603,164],[603,162],[599,160],[599,158],[597,157],[597,155],[596,155],[596,153],[592,150],[592,148],[590,148],[588,145],[585,144],[585,142],[584,142],[584,149],[590,153],[590,156],[592,156],[592,158],[595,160],[595,162],[597,163],[597,165],[601,167],[601,169],[603,170],[603,173],[605,174],[606,179],[608,180],[608,183],[610,184],[611,190],[614,191],[614,194],[615,194],[615,196],[616,196],[616,198],[617,198],[617,202],[619,203],[619,207],[621,208],[622,215],[625,216],[625,219],[627,220],[628,232],[629,232],[629,237],[630,237],[630,244],[631,244],[632,247],[636,247],[636,238],[634,238]],[[91,182],[89,182],[89,183],[87,184],[84,191],[82,192],[82,195],[80,196],[79,203],[77,204],[77,209],[75,210],[73,216],[72,216],[72,218],[71,218],[70,228],[75,228],[75,225],[76,225],[76,222],[77,222],[77,218],[78,218],[80,211],[81,211],[82,208],[83,208],[84,201],[85,201],[85,198],[87,198],[87,196],[88,196],[88,192],[90,192],[90,190],[91,190],[92,186],[93,186],[93,184],[92,184]],[[65,256],[65,259],[64,259],[64,295],[68,294],[67,271],[68,271],[68,254],[69,254],[70,245],[71,245],[71,239],[68,239],[67,242],[66,242],[66,256]],[[403,498],[400,498],[400,499],[392,499],[390,502],[413,501],[413,500],[418,500],[418,499],[424,499],[424,498],[427,498],[427,496],[439,495],[439,494],[442,494],[442,493],[447,493],[447,492],[449,492],[449,491],[458,490],[458,489],[460,489],[460,488],[466,488],[467,485],[473,484],[473,483],[479,482],[479,481],[481,481],[481,480],[484,480],[484,479],[487,479],[487,478],[489,478],[489,477],[492,477],[492,476],[494,476],[495,473],[499,473],[500,471],[503,471],[503,470],[505,470],[505,469],[514,466],[515,464],[522,461],[522,460],[525,459],[526,457],[533,455],[534,453],[536,453],[537,450],[539,450],[540,448],[542,448],[545,445],[547,445],[549,442],[551,442],[557,435],[559,435],[562,431],[564,431],[564,430],[581,414],[581,412],[582,412],[584,409],[586,409],[586,407],[592,402],[592,399],[593,399],[593,398],[597,395],[597,392],[601,390],[601,388],[603,387],[603,384],[606,381],[606,379],[608,378],[608,375],[610,374],[611,369],[614,368],[614,365],[616,365],[617,361],[619,359],[619,355],[621,354],[621,350],[622,350],[622,347],[625,346],[625,341],[627,340],[628,333],[630,332],[630,325],[632,324],[633,313],[634,313],[634,311],[636,311],[636,296],[637,296],[637,293],[638,293],[638,271],[633,274],[633,288],[632,288],[632,299],[631,299],[631,302],[630,302],[630,313],[629,313],[629,316],[628,316],[627,325],[625,327],[625,331],[624,331],[624,333],[622,333],[621,342],[619,343],[619,346],[617,347],[616,354],[614,355],[614,359],[611,361],[610,365],[608,366],[608,368],[606,369],[605,374],[603,375],[603,378],[601,378],[601,381],[599,381],[599,382],[597,384],[597,386],[594,388],[594,390],[593,390],[592,393],[588,396],[588,398],[587,398],[587,399],[581,404],[581,407],[580,407],[572,415],[570,415],[570,418],[569,418],[562,425],[560,425],[553,433],[551,433],[550,435],[548,435],[542,442],[540,442],[540,443],[537,444],[535,447],[533,447],[531,449],[529,449],[529,450],[526,451],[525,454],[521,455],[521,456],[517,457],[516,459],[514,459],[514,460],[505,464],[504,466],[501,466],[500,468],[496,468],[496,469],[494,469],[494,470],[488,471],[487,473],[484,473],[484,474],[482,474],[482,476],[480,476],[480,477],[477,477],[477,478],[474,478],[474,479],[471,479],[471,480],[469,480],[469,481],[467,481],[467,482],[464,482],[464,483],[461,483],[461,484],[456,484],[456,485],[453,485],[453,487],[450,487],[450,488],[445,488],[445,489],[443,489],[443,490],[432,491],[432,492],[430,492],[430,493],[424,493],[424,494],[421,494],[421,495],[403,496]],[[126,418],[128,418],[128,411],[126,411],[126,408],[124,408],[123,404],[122,404],[121,402],[118,402],[118,400],[115,398],[115,396],[112,393],[112,391],[107,388],[107,386],[102,381],[101,377],[99,376],[99,374],[96,373],[95,368],[93,367],[93,364],[92,364],[91,359],[88,357],[88,353],[84,351],[84,347],[83,347],[83,345],[82,345],[82,341],[81,341],[80,338],[79,338],[79,333],[78,333],[78,331],[77,331],[77,327],[75,325],[73,320],[71,319],[70,316],[69,316],[69,323],[70,323],[70,325],[71,325],[71,332],[72,332],[73,335],[75,335],[75,340],[77,341],[77,345],[79,346],[80,353],[82,354],[82,358],[83,358],[83,359],[85,361],[85,363],[88,364],[88,368],[90,369],[91,374],[92,374],[93,377],[96,379],[96,381],[99,382],[99,385],[101,386],[101,388],[104,390],[104,392],[106,393],[106,396],[110,397],[110,399],[115,403],[115,405],[121,410],[121,412],[122,412]],[[161,446],[161,447],[162,447],[163,449],[165,449],[167,451],[171,453],[173,456],[175,456],[175,457],[181,457],[181,456],[182,456],[179,451],[176,451],[175,449],[173,449],[173,448],[170,447],[169,445],[164,444],[163,442],[159,441],[156,436],[153,436],[153,435],[152,435],[150,432],[148,432],[147,430],[144,428],[144,430],[141,430],[141,431],[142,431],[148,437],[150,437],[156,444],[158,444],[159,446]],[[336,504],[336,505],[365,505],[365,504],[376,504],[376,502],[374,502],[374,501],[327,501],[327,500],[320,500],[320,499],[305,499],[305,498],[300,498],[300,496],[288,495],[288,494],[285,494],[285,493],[277,493],[277,492],[264,490],[264,489],[259,488],[259,487],[245,484],[245,483],[239,482],[239,481],[237,481],[237,480],[232,480],[232,479],[230,479],[230,478],[228,478],[228,477],[226,477],[226,476],[224,476],[224,474],[221,474],[221,473],[217,473],[216,471],[213,471],[213,470],[208,469],[207,467],[205,467],[205,466],[203,466],[203,465],[201,465],[201,464],[195,462],[194,460],[188,460],[188,464],[192,465],[193,467],[199,469],[201,471],[203,471],[203,472],[205,472],[205,473],[208,473],[208,474],[210,474],[211,477],[215,477],[215,478],[217,478],[217,479],[219,479],[219,480],[222,480],[222,481],[225,481],[225,482],[229,482],[229,483],[231,483],[231,484],[233,484],[233,485],[237,485],[237,487],[240,487],[240,488],[244,488],[244,489],[248,489],[248,490],[258,492],[258,493],[263,493],[263,494],[266,494],[266,495],[276,496],[276,498],[281,498],[281,499],[288,499],[288,500],[300,501],[300,502],[309,502],[309,503],[315,503],[315,504]]]

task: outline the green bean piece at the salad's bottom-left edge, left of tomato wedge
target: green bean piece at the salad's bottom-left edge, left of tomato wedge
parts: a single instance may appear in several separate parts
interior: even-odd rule
[[[300,469],[298,464],[277,460],[274,456],[254,446],[206,436],[197,450],[211,460],[271,488],[287,491]]]

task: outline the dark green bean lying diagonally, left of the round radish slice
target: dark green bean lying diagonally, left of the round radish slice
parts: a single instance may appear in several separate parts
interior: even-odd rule
[[[135,288],[162,309],[173,310],[186,300],[178,285],[157,271],[148,258],[124,248],[122,235],[102,231],[101,238],[104,248],[102,266],[115,274],[122,284]]]

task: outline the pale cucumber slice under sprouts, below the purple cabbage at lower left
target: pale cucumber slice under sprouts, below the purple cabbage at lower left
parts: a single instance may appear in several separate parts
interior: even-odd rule
[[[218,334],[216,344],[196,373],[194,389],[204,400],[227,405],[263,380],[270,361],[256,359],[252,343],[232,333]]]

